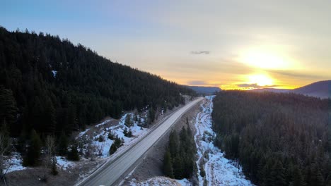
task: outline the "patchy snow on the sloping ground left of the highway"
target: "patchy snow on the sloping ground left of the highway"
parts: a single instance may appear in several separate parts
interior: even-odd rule
[[[146,114],[147,111],[144,111],[140,115],[137,115],[137,118],[140,120],[141,123],[144,123],[146,120]],[[125,119],[127,116],[131,116],[132,118],[132,126],[128,128],[125,124]],[[80,132],[75,138],[79,144],[79,151],[83,153],[83,156],[87,152],[87,142],[91,142],[91,144],[94,145],[94,152],[95,158],[97,158],[99,163],[105,163],[106,161],[110,161],[111,159],[114,159],[116,156],[122,153],[125,149],[129,148],[130,145],[132,145],[134,142],[137,142],[137,140],[141,139],[146,133],[149,131],[146,128],[141,128],[138,126],[138,122],[134,121],[134,113],[126,113],[122,118],[120,118],[120,121],[117,123],[117,125],[107,125],[110,121],[113,119],[108,119],[103,121],[102,123],[99,123],[98,125],[95,125],[91,128],[88,128],[82,132]],[[132,131],[132,137],[125,137],[124,136],[124,128],[127,128],[127,131]],[[112,132],[115,136],[120,137],[124,144],[122,147],[117,149],[115,154],[112,154],[110,156],[109,149],[110,146],[113,143],[113,140],[108,139],[109,133]],[[91,135],[92,134],[92,135]],[[102,136],[103,140],[99,141],[100,136]],[[90,141],[89,141],[90,140]],[[66,157],[62,156],[56,156],[57,159],[57,166],[58,168],[61,168],[62,170],[68,170],[71,168],[74,168],[75,166],[81,165],[82,161],[87,163],[89,160],[85,159],[84,157],[81,157],[81,161],[68,161]],[[83,162],[83,163],[84,163]],[[20,171],[25,169],[26,167],[22,166],[22,157],[21,154],[18,152],[13,152],[11,156],[5,157],[5,166],[6,173],[10,173],[13,171]]]

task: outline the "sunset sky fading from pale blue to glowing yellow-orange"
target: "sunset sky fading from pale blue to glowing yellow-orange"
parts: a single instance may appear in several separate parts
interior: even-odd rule
[[[182,85],[331,79],[331,1],[1,0],[7,30],[47,32]]]

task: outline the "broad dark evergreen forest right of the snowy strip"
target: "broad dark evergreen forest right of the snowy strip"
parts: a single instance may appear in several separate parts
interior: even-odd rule
[[[331,185],[330,101],[219,92],[212,113],[214,143],[257,185]]]

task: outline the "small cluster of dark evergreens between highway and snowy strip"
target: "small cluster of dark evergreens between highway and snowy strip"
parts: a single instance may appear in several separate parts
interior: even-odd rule
[[[197,172],[194,162],[197,149],[194,136],[189,126],[183,127],[179,134],[175,130],[170,133],[168,148],[163,159],[163,173],[169,178],[192,178]]]

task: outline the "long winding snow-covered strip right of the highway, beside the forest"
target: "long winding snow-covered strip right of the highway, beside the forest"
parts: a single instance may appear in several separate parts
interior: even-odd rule
[[[252,185],[250,180],[245,179],[241,168],[234,166],[232,161],[224,158],[223,152],[214,147],[213,138],[215,132],[211,129],[211,112],[213,109],[214,96],[206,97],[201,105],[202,111],[197,114],[195,128],[197,130],[194,140],[197,145],[197,160],[199,185]],[[201,169],[206,175],[200,175]]]

